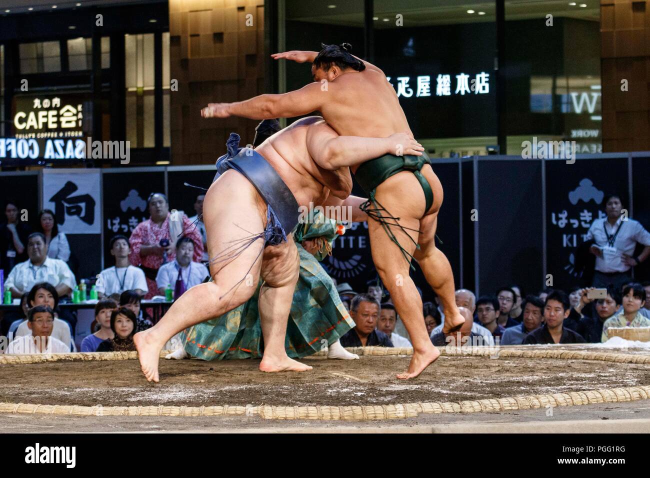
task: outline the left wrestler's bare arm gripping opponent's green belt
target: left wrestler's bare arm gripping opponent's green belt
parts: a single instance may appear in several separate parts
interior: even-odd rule
[[[324,121],[307,130],[307,152],[318,166],[330,170],[358,165],[384,154],[421,156],[422,151],[422,145],[408,133],[387,138],[339,136]]]

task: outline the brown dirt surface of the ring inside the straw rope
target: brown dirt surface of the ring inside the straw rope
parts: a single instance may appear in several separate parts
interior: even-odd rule
[[[161,360],[161,382],[137,360],[0,365],[0,401],[44,405],[382,405],[461,401],[650,384],[647,365],[441,356],[415,380],[409,357],[305,358],[306,373],[267,374],[257,360]]]

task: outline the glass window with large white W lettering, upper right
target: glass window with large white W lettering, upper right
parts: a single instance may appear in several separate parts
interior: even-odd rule
[[[602,152],[599,3],[506,1],[505,13],[507,153],[535,137]]]

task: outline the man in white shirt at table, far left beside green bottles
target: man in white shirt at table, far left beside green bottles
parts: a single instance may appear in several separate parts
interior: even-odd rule
[[[34,232],[27,238],[27,255],[29,260],[16,264],[6,278],[5,287],[11,291],[14,299],[29,293],[34,284],[49,282],[59,297],[68,295],[75,287],[75,276],[70,267],[61,259],[47,257],[45,236]]]

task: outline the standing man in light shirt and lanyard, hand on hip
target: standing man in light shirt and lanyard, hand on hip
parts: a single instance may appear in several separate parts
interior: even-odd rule
[[[618,194],[606,196],[604,204],[607,217],[594,220],[585,236],[585,241],[593,239],[590,252],[596,256],[593,286],[614,284],[620,289],[632,280],[630,269],[650,255],[650,232],[634,219],[623,220],[623,202]],[[633,257],[636,243],[645,248]]]

